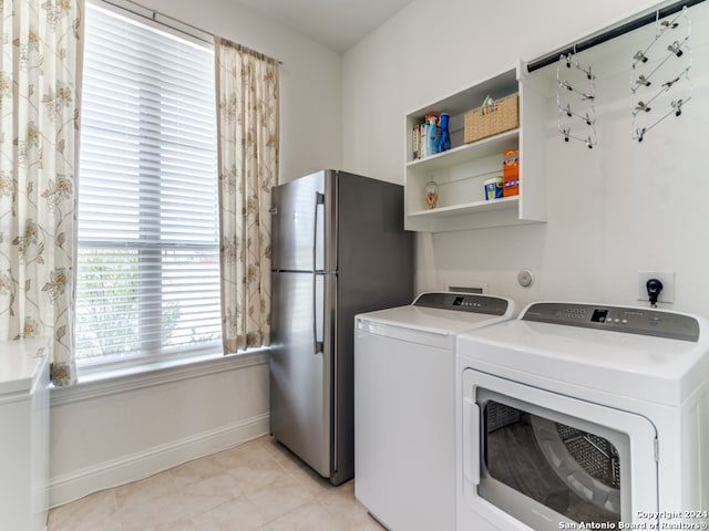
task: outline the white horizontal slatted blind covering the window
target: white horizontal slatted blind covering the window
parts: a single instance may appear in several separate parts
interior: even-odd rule
[[[214,50],[86,6],[80,366],[220,344]]]

